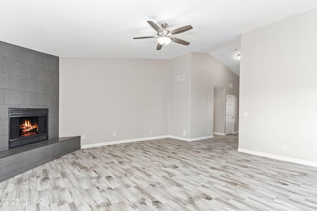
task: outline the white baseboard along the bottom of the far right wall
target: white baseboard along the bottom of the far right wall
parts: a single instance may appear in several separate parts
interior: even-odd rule
[[[307,166],[317,167],[317,162],[306,161],[306,160],[301,160],[301,159],[297,159],[297,158],[290,158],[290,157],[274,155],[274,154],[269,154],[269,153],[264,153],[264,152],[259,152],[259,151],[242,149],[242,148],[238,148],[238,152],[262,156],[262,157],[266,157],[266,158],[273,158],[276,160],[287,161],[287,162],[291,162],[291,163],[295,163],[295,164],[303,164],[303,165],[307,165]]]

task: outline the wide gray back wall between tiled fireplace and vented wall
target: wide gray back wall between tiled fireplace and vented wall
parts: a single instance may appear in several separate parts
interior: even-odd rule
[[[83,145],[167,135],[169,60],[60,58],[59,106],[60,136]]]

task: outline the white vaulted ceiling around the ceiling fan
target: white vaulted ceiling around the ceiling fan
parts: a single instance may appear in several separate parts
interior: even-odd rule
[[[59,57],[164,58],[209,52],[239,75],[240,35],[317,7],[317,0],[1,0],[0,41]],[[147,23],[193,29],[157,51]],[[237,49],[237,50],[234,50]]]

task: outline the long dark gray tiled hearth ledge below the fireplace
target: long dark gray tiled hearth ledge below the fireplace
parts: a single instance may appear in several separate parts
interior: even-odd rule
[[[0,151],[0,182],[78,149],[80,136],[71,136]]]

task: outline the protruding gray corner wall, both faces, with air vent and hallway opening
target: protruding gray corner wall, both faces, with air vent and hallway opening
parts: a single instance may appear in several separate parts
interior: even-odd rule
[[[185,80],[177,82],[179,75],[185,75]],[[233,84],[233,88],[229,84]],[[170,135],[195,139],[213,134],[215,85],[224,87],[225,94],[235,96],[238,111],[239,77],[211,54],[191,52],[171,59]],[[238,120],[237,112],[235,131],[239,128]],[[183,136],[183,130],[190,132]]]

